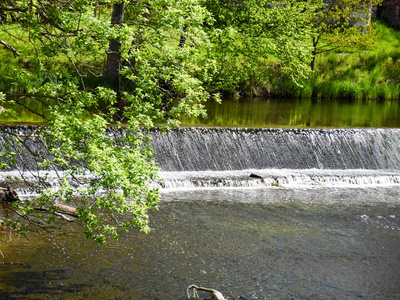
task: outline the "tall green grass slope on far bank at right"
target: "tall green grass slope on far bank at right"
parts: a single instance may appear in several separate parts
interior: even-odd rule
[[[400,31],[376,24],[374,49],[330,52],[316,60],[315,72],[302,87],[272,79],[271,93],[293,98],[349,100],[400,99]]]

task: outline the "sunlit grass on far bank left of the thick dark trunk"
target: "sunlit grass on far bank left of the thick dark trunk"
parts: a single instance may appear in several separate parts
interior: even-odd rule
[[[0,45],[0,91],[6,93],[30,93],[35,88],[46,83],[57,81],[79,82],[75,69],[71,66],[66,55],[37,56],[35,49],[42,45],[32,44],[29,33],[23,31],[15,24],[1,24],[2,40],[12,45],[20,55],[14,57],[13,53]],[[88,88],[96,87],[100,81],[104,81],[101,74],[104,63],[104,53],[94,51],[83,57],[74,57],[79,70],[88,73],[85,77]],[[86,70],[91,72],[86,72]]]

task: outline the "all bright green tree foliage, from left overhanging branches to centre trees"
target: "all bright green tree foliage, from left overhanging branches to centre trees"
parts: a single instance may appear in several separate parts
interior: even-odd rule
[[[150,128],[178,126],[183,114],[204,115],[206,100],[219,101],[218,92],[238,89],[239,82],[267,78],[271,66],[293,82],[306,78],[312,40],[329,24],[322,22],[322,5],[2,1],[0,53],[8,61],[0,75],[2,113],[21,106],[46,124],[29,134],[2,126],[8,138],[2,166],[15,168],[15,157],[34,139],[47,151],[29,149],[37,167],[59,175],[57,188],[49,188],[46,172],[35,173],[40,195],[14,203],[14,211],[31,222],[51,222],[59,209],[54,204],[70,203],[86,235],[100,243],[131,227],[148,231],[147,211],[159,200]],[[19,221],[7,222],[18,227]]]

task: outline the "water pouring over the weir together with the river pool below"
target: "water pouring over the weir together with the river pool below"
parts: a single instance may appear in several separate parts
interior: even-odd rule
[[[190,284],[228,299],[400,297],[400,129],[152,135],[151,233],[102,247],[77,224],[29,241],[3,232],[0,298],[186,299]]]

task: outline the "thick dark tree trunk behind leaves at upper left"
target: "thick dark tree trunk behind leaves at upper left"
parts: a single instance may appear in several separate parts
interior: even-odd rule
[[[121,1],[113,5],[111,24],[118,26],[124,21],[125,2]],[[110,40],[107,51],[107,62],[103,76],[114,83],[114,89],[118,89],[119,71],[121,65],[121,43],[118,40]]]

